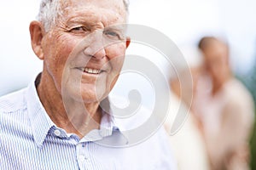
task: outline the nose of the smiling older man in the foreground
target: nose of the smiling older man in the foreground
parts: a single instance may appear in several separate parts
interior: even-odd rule
[[[90,45],[87,48],[84,48],[84,54],[93,59],[103,59],[106,57],[102,31],[93,32],[89,38]]]

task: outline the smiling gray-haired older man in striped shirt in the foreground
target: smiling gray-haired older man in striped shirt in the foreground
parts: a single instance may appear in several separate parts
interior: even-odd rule
[[[0,99],[1,169],[175,168],[162,128],[129,145],[101,105],[130,43],[127,13],[121,0],[41,2],[30,33],[44,69]]]

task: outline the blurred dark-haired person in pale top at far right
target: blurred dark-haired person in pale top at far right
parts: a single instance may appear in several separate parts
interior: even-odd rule
[[[204,55],[204,69],[192,110],[201,122],[212,170],[247,170],[254,116],[252,96],[232,75],[225,42],[202,37],[198,46]]]

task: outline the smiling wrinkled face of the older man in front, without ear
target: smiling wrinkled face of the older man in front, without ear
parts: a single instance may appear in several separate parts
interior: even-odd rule
[[[126,48],[126,12],[120,0],[70,0],[43,38],[44,71],[59,93],[84,102],[113,88]],[[63,95],[63,94],[62,94]]]

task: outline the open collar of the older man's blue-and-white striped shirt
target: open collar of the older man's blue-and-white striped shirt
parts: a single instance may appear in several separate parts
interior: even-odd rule
[[[26,89],[26,101],[27,101],[27,111],[29,115],[29,119],[32,126],[32,134],[35,140],[35,143],[38,147],[42,147],[44,144],[44,139],[46,138],[49,130],[52,127],[56,127],[55,123],[51,121],[48,114],[44,110],[44,106],[42,105],[36,88],[36,83],[38,83],[38,75],[36,82],[31,82]],[[108,99],[106,99],[108,102]],[[80,142],[83,141],[112,141],[113,144],[128,144],[128,138],[122,134],[122,128],[115,121],[113,115],[111,114],[111,110],[102,111],[102,120],[100,129],[92,130],[88,135],[86,135]],[[115,138],[111,137],[114,136]],[[119,140],[116,140],[116,136],[118,136]],[[106,139],[104,139],[106,138]],[[114,139],[114,140],[113,140]],[[121,141],[121,142],[119,142]]]

